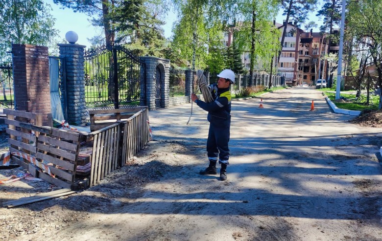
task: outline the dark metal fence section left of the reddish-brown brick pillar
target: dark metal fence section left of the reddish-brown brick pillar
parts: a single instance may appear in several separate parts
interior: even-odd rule
[[[0,63],[0,107],[14,107],[12,63]]]

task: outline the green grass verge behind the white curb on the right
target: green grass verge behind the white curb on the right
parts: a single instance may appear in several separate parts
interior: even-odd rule
[[[330,88],[322,88],[322,89],[317,89],[320,92],[324,92],[326,96],[334,103],[334,105],[339,108],[339,109],[344,109],[344,110],[378,110],[378,103],[379,103],[379,96],[377,95],[369,95],[370,100],[369,100],[369,105],[366,105],[366,95],[364,95],[362,103],[359,103],[356,100],[349,101],[349,102],[335,102],[335,93],[331,93],[329,91],[335,91],[334,89]],[[346,93],[346,92],[355,92],[355,90],[350,90],[350,91],[341,91],[340,96],[347,98],[347,99],[354,99],[355,94],[351,93]]]

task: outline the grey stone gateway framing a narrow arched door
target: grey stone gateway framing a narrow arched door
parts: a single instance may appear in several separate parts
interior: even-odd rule
[[[146,65],[146,105],[149,110],[155,110],[156,71],[161,71],[161,108],[168,108],[170,98],[170,61],[152,56],[143,56],[141,60]],[[142,91],[142,90],[141,90]]]

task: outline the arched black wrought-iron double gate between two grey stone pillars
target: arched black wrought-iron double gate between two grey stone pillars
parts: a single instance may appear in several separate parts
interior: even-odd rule
[[[85,101],[88,108],[144,106],[145,63],[120,46],[85,50]]]

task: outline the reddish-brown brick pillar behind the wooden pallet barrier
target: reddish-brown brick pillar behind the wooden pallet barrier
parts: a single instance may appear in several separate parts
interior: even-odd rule
[[[48,47],[12,44],[15,110],[40,113],[48,125],[50,110]]]

